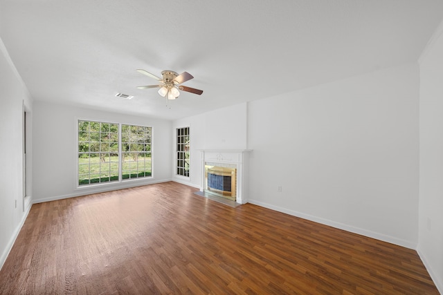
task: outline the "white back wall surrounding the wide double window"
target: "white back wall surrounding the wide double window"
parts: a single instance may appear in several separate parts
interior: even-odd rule
[[[172,122],[169,120],[107,113],[47,102],[35,102],[33,113],[34,202],[171,180]],[[153,178],[76,188],[78,119],[152,126]]]

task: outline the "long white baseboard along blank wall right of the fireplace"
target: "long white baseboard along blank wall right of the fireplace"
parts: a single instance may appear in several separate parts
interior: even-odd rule
[[[328,225],[329,227],[335,227],[336,229],[343,229],[345,231],[350,231],[350,232],[352,232],[354,234],[359,234],[359,235],[362,235],[362,236],[367,236],[369,238],[375,238],[377,240],[382,240],[383,242],[390,242],[391,244],[399,245],[401,247],[406,247],[408,249],[413,249],[413,250],[417,249],[417,244],[415,244],[414,242],[410,242],[408,240],[402,240],[402,239],[395,238],[395,237],[392,237],[392,236],[387,236],[387,235],[384,235],[384,234],[379,234],[377,232],[368,231],[366,229],[361,229],[359,227],[352,227],[350,225],[345,225],[345,224],[343,224],[341,222],[335,222],[333,220],[328,220],[328,219],[320,218],[320,217],[317,217],[317,216],[311,216],[309,214],[305,214],[305,213],[302,213],[302,212],[293,211],[293,210],[290,210],[290,209],[274,206],[272,204],[267,204],[265,202],[260,202],[260,201],[257,201],[257,200],[249,199],[248,202],[250,202],[251,204],[256,204],[257,206],[265,207],[265,208],[272,209],[272,210],[275,210],[275,211],[279,211],[279,212],[282,212],[282,213],[287,213],[287,214],[289,214],[291,216],[296,216],[296,217],[303,218],[303,219],[306,219],[306,220],[311,220],[311,221],[314,221],[314,222],[318,222],[318,223],[321,223],[322,225]]]

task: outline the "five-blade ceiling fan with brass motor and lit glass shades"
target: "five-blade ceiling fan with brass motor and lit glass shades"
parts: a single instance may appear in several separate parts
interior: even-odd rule
[[[180,95],[179,90],[195,93],[198,95],[201,95],[201,93],[203,93],[202,90],[181,85],[183,82],[186,82],[194,78],[194,76],[192,76],[188,72],[183,72],[179,75],[172,70],[163,70],[163,72],[161,72],[162,76],[161,78],[157,77],[152,73],[147,72],[146,70],[138,69],[137,72],[143,75],[147,75],[148,77],[156,79],[157,81],[160,82],[160,84],[158,85],[138,86],[137,87],[138,89],[160,88],[159,95],[163,97],[168,95],[168,99],[176,99],[177,97],[179,97]]]

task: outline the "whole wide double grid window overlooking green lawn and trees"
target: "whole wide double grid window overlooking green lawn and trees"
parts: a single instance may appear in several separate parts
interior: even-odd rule
[[[78,121],[79,186],[152,174],[152,127],[122,125],[122,139],[125,140],[122,144],[119,128],[115,123]]]

